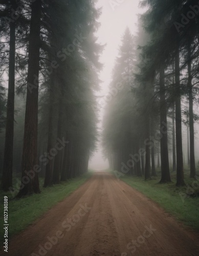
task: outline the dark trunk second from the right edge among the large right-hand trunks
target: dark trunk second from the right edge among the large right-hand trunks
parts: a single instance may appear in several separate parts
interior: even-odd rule
[[[176,133],[176,185],[183,186],[183,144],[182,144],[182,117],[181,117],[181,84],[180,84],[180,53],[179,47],[175,54],[175,133]]]

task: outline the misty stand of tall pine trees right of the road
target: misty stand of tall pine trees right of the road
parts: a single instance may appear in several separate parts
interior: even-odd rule
[[[194,113],[198,91],[198,2],[143,0],[139,31],[127,28],[110,83],[120,90],[106,105],[104,154],[120,178],[157,176],[160,183],[185,185],[182,125],[188,131],[190,178],[196,178]],[[189,151],[190,143],[190,151]],[[169,161],[169,148],[172,160]],[[172,166],[172,167],[171,167]]]

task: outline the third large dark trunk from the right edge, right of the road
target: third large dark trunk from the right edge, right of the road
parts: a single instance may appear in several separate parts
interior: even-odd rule
[[[164,63],[160,69],[160,154],[161,154],[161,180],[160,183],[170,182],[169,155],[167,138],[167,106],[165,97],[165,73]]]

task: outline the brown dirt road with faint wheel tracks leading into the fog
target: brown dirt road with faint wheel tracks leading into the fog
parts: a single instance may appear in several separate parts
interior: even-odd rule
[[[15,236],[5,255],[188,256],[199,255],[198,238],[138,191],[101,172]]]

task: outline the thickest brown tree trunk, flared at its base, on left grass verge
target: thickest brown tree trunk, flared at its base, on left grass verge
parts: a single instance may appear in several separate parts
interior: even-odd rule
[[[41,0],[32,3],[21,187],[16,197],[40,193],[37,165],[38,76]],[[32,173],[28,175],[27,173]],[[29,177],[30,176],[30,177]]]

